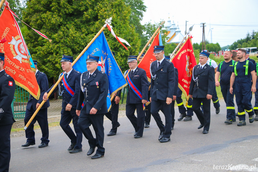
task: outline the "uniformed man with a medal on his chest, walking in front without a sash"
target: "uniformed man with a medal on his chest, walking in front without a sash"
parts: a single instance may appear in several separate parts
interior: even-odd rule
[[[94,153],[91,159],[98,159],[104,156],[104,114],[108,112],[107,95],[109,91],[109,80],[105,72],[99,71],[98,56],[88,55],[86,64],[87,70],[81,74],[80,93],[76,113],[79,116],[78,125],[83,131],[84,136],[88,139],[90,149],[87,155]],[[85,104],[82,107],[82,103]],[[96,138],[93,137],[90,126],[92,125]]]

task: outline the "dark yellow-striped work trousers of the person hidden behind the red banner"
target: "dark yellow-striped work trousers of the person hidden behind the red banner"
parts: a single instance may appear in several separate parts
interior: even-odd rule
[[[187,110],[185,109],[184,107],[184,103],[183,103],[183,100],[181,98],[182,96],[182,91],[181,89],[178,87],[177,88],[177,93],[176,93],[176,103],[177,103],[177,106],[178,106],[178,110],[179,110],[179,113],[185,113],[187,112],[187,116],[193,116],[193,109],[192,109],[192,105],[193,105],[193,99],[192,98],[189,98],[188,99],[188,105],[187,105]]]

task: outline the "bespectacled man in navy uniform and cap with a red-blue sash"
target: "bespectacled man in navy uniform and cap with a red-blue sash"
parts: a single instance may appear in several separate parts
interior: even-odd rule
[[[126,78],[128,82],[126,116],[135,129],[134,138],[141,138],[143,136],[145,122],[143,105],[148,102],[149,82],[146,71],[137,66],[137,56],[129,56],[127,63],[131,71]],[[135,116],[135,109],[137,117]]]

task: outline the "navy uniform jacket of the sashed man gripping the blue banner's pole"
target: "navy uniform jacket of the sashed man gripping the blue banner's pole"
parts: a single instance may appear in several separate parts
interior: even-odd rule
[[[60,74],[60,76],[61,76],[61,74]],[[62,94],[62,96],[63,96],[62,108],[65,108],[68,103],[71,104],[73,106],[73,108],[77,107],[78,94],[79,94],[79,91],[80,91],[80,76],[81,76],[80,72],[72,69],[71,73],[68,75],[68,78],[66,80],[67,83],[69,84],[69,86],[75,91],[73,96],[71,96],[66,91],[66,89],[65,89],[65,87],[63,85],[63,80],[61,80],[61,82],[60,82],[60,90],[61,90],[61,92],[64,91],[63,94]],[[53,86],[51,86],[51,88],[48,89],[47,93],[52,89]],[[52,94],[54,94],[54,92],[56,92],[57,90],[58,90],[58,87],[56,87],[54,89]]]

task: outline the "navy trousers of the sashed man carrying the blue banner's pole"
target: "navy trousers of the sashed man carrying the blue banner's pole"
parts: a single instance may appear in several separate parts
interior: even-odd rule
[[[83,133],[78,126],[79,117],[76,115],[76,108],[72,107],[70,111],[66,111],[65,108],[62,108],[60,127],[64,130],[65,134],[71,139],[71,143],[76,143],[74,145],[75,149],[82,148]],[[70,122],[73,120],[74,131],[70,127]]]

